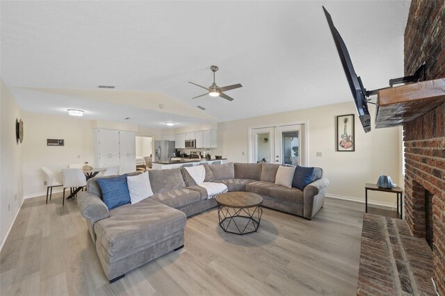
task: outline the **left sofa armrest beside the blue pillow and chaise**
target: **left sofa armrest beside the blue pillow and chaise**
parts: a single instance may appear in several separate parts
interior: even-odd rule
[[[82,217],[89,219],[91,224],[108,218],[108,207],[97,195],[89,192],[81,192],[77,196],[77,205]]]

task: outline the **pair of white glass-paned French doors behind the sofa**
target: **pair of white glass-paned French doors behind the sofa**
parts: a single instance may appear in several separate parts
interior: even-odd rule
[[[252,129],[252,163],[306,165],[305,124]]]

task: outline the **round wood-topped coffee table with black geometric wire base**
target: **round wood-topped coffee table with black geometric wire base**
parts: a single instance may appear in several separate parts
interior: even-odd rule
[[[252,192],[227,192],[216,197],[220,227],[239,235],[258,230],[263,197]]]

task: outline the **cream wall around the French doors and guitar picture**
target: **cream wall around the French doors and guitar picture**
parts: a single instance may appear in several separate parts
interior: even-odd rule
[[[375,107],[369,106],[372,126]],[[378,176],[400,175],[400,128],[373,129],[364,133],[355,115],[355,151],[337,152],[335,121],[337,115],[356,114],[352,102],[293,110],[285,113],[252,117],[244,120],[218,123],[218,149],[213,154],[222,155],[234,162],[248,162],[249,128],[274,124],[308,122],[309,166],[322,167],[330,180],[329,195],[364,199],[364,183],[376,183]],[[316,157],[316,152],[322,157]],[[394,204],[395,195],[370,192],[369,199]]]

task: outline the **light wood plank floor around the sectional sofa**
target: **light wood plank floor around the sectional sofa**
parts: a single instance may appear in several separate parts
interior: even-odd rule
[[[188,218],[185,247],[108,283],[76,202],[26,199],[0,254],[0,295],[355,295],[362,204],[327,199],[313,220],[265,208],[225,233],[216,208]]]

